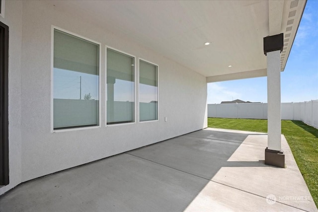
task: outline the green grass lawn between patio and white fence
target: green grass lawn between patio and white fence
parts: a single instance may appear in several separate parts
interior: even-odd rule
[[[208,118],[208,127],[267,133],[267,120]],[[318,208],[318,130],[301,121],[282,120],[282,134]]]

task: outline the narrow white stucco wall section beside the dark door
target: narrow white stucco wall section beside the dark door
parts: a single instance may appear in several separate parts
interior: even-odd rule
[[[9,27],[8,119],[9,181],[0,194],[21,182],[21,41],[22,2],[6,1],[5,16],[0,21]]]

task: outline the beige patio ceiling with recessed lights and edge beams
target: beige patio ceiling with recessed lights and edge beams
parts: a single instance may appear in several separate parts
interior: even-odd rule
[[[284,71],[306,1],[53,0],[49,3],[124,34],[213,82],[266,76],[263,37],[280,33],[284,33],[281,54],[281,71]],[[206,42],[211,44],[206,46]]]

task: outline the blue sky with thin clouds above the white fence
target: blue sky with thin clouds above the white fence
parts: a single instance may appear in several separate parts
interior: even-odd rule
[[[267,102],[267,77],[208,83],[208,104],[221,101]],[[308,0],[281,72],[281,102],[318,99],[318,0]]]

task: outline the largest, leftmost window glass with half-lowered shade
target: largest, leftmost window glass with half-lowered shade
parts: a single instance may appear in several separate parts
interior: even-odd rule
[[[54,29],[53,128],[99,126],[99,44]]]

